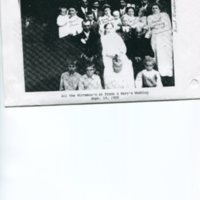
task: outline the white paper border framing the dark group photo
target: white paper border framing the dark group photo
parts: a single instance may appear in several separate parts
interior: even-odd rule
[[[174,32],[173,42],[176,87],[162,89],[151,88],[148,90],[149,95],[120,96],[119,100],[110,99],[109,102],[200,98],[200,20],[198,20],[200,17],[200,3],[199,0],[172,0],[172,2],[175,2],[176,5],[173,8],[173,13],[176,15],[173,17],[173,20],[177,22],[177,32]],[[66,91],[26,93],[24,89],[19,1],[1,0],[1,3],[6,106],[103,102],[103,100],[92,101],[88,97],[62,98],[62,94],[66,94]],[[8,13],[12,14],[9,15]],[[196,86],[191,85],[194,79],[198,81]],[[109,90],[109,92],[111,91]],[[73,93],[76,94],[77,92]],[[79,93],[81,92],[79,91]]]

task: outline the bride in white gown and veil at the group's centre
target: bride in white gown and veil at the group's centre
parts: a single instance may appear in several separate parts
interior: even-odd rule
[[[114,25],[108,23],[104,26],[104,33],[101,35],[102,56],[104,63],[104,84],[109,81],[113,76],[113,58],[117,55],[120,56],[123,62],[123,72],[128,76],[133,74],[132,62],[126,56],[126,46],[123,39],[115,32]]]

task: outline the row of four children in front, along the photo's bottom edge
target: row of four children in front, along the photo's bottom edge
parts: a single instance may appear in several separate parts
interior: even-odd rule
[[[152,88],[162,87],[161,77],[158,71],[154,69],[155,60],[146,56],[144,69],[134,77],[129,74],[123,74],[123,60],[116,55],[113,58],[113,76],[104,83],[100,76],[95,73],[95,66],[88,62],[85,66],[85,74],[81,76],[77,72],[77,62],[67,64],[67,72],[61,75],[60,91],[64,90],[98,90],[98,89],[133,89],[133,88]]]

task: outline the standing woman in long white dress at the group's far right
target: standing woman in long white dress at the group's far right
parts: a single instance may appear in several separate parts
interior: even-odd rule
[[[152,13],[147,18],[149,26],[147,37],[151,37],[158,71],[162,77],[173,77],[171,21],[167,13],[160,11],[159,4],[152,5]]]

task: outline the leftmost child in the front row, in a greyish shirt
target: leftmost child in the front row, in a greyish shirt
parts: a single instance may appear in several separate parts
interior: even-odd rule
[[[76,72],[77,62],[71,62],[67,65],[68,71],[61,75],[60,79],[60,91],[64,90],[78,90],[78,84],[81,75]]]

